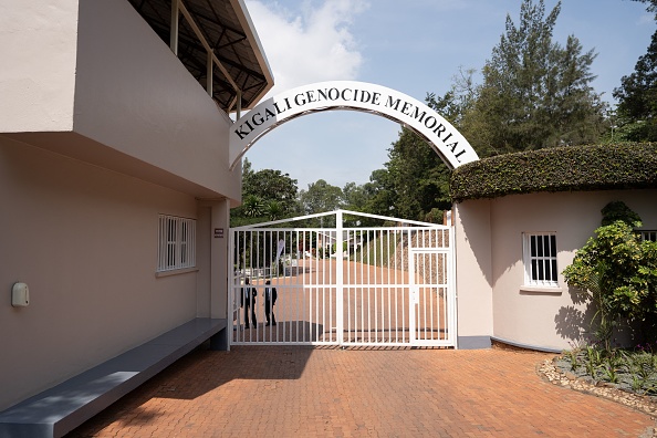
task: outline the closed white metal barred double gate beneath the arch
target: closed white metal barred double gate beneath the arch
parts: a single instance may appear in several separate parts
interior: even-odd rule
[[[334,228],[278,228],[331,216]],[[395,226],[361,227],[358,217]],[[345,210],[233,228],[231,344],[456,346],[451,236]]]

